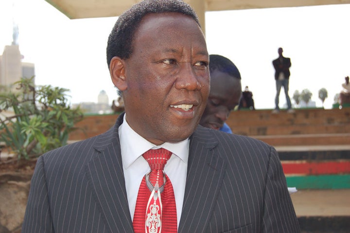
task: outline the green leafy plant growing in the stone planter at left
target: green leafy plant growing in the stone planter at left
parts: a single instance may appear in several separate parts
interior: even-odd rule
[[[70,108],[68,89],[35,86],[33,79],[21,78],[15,91],[2,87],[0,93],[0,142],[18,159],[67,144],[74,124],[83,119],[80,108]]]

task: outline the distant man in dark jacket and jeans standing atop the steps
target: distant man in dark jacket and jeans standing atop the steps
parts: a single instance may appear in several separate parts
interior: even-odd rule
[[[292,109],[292,103],[290,101],[290,97],[288,94],[289,89],[289,76],[290,71],[289,68],[291,67],[291,61],[289,57],[283,56],[283,49],[278,49],[279,57],[272,61],[272,65],[275,68],[275,80],[276,80],[276,98],[275,98],[275,109],[273,110],[273,113],[279,113],[280,107],[279,107],[279,101],[280,101],[280,90],[281,87],[284,89],[284,93],[287,100],[287,112],[293,113],[294,110]]]

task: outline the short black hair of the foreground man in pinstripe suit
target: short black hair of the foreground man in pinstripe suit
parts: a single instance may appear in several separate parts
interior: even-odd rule
[[[182,0],[143,0],[126,10],[115,23],[107,42],[107,64],[114,56],[127,59],[133,52],[133,39],[141,19],[151,13],[175,12],[193,18],[199,24],[192,7]]]

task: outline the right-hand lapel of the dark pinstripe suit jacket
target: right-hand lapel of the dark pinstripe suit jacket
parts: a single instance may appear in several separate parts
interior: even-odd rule
[[[224,178],[226,163],[217,154],[210,130],[198,126],[190,139],[182,215],[178,232],[205,232]]]

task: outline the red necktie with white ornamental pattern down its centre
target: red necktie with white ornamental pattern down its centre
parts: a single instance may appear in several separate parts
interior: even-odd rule
[[[133,220],[135,233],[177,233],[173,185],[163,172],[171,155],[164,148],[151,149],[142,155],[151,172],[140,184]]]

